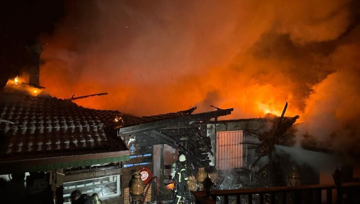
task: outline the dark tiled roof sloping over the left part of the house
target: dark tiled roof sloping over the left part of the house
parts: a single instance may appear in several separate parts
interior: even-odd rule
[[[194,110],[135,117],[49,95],[0,92],[0,158],[127,151],[115,128],[190,115]]]

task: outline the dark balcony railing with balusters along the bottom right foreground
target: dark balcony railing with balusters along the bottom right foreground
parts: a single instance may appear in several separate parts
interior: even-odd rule
[[[192,191],[197,204],[215,204],[216,197],[219,203],[240,204],[246,199],[248,204],[322,204],[322,193],[326,192],[326,204],[333,202],[333,190],[336,192],[336,204],[360,203],[360,182],[344,183],[341,187],[335,185],[311,185],[300,187],[268,187],[246,188],[234,190],[213,190],[208,194],[205,191]],[[255,201],[256,198],[256,201]]]

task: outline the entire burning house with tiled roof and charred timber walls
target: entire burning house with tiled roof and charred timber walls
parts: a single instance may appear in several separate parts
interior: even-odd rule
[[[31,85],[17,77],[0,93],[5,201],[70,203],[72,192],[80,190],[97,194],[94,198],[103,203],[172,202],[174,165],[180,154],[186,157],[191,191],[321,183],[320,171],[292,160],[293,124],[299,116],[284,117],[287,103],[280,117],[219,120],[233,108],[214,106],[210,112],[194,113],[193,107],[137,117],[73,102],[107,93],[69,99],[50,96],[38,84],[38,60],[34,61]],[[145,186],[140,196],[130,185],[137,174]],[[202,181],[214,185],[209,188]],[[186,192],[185,203],[197,200],[196,192],[195,197]],[[262,197],[257,198],[261,203]],[[227,203],[226,197],[213,199]]]

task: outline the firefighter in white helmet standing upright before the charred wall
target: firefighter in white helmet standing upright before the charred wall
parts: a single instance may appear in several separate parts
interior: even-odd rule
[[[185,155],[181,154],[179,156],[179,163],[175,173],[175,192],[176,196],[174,199],[174,204],[179,204],[185,192],[185,185],[187,182],[187,172],[185,167]]]

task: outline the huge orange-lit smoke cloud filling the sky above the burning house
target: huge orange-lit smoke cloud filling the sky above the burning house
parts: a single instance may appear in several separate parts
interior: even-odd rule
[[[215,105],[234,107],[233,118],[263,117],[281,114],[288,101],[287,115],[302,116],[302,133],[358,138],[358,7],[350,0],[69,1],[55,33],[40,37],[40,84],[61,98],[108,92],[77,102],[135,115]]]

